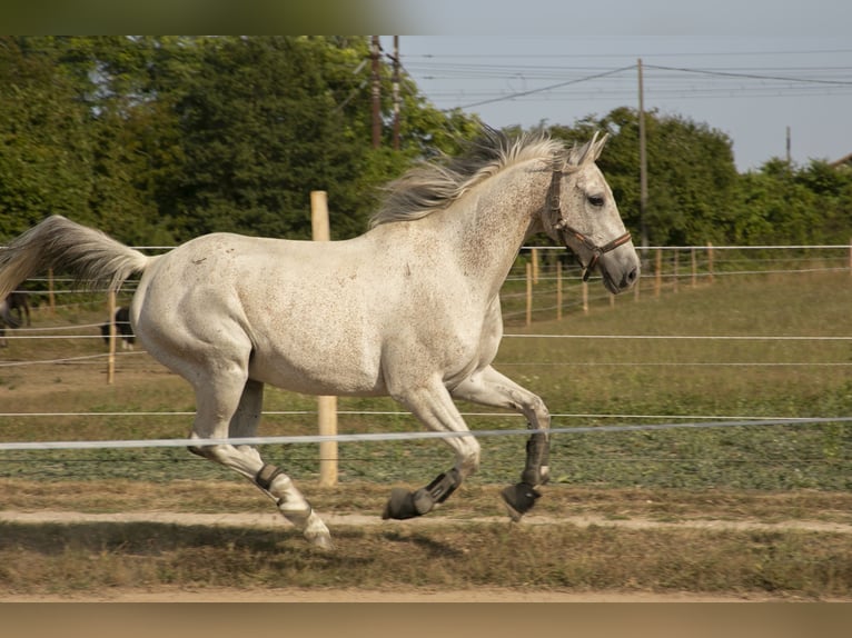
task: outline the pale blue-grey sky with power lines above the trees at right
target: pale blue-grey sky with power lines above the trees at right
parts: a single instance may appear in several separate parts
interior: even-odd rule
[[[414,28],[400,58],[420,91],[494,127],[636,108],[641,58],[645,108],[725,132],[740,170],[784,157],[787,127],[797,163],[852,152],[848,1],[403,4]],[[390,53],[393,39],[382,42]]]

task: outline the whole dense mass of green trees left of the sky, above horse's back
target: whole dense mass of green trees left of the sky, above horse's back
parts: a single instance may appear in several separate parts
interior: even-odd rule
[[[366,38],[28,37],[0,40],[0,233],[50,212],[137,245],[202,232],[308,237],[309,192],[333,235],[363,232],[380,186],[458,152],[476,120],[400,82],[390,144],[370,143]]]

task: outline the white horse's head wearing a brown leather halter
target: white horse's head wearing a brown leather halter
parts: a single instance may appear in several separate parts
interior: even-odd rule
[[[595,161],[606,143],[597,133],[556,160],[543,210],[545,232],[565,245],[583,266],[583,280],[597,268],[617,295],[638,279],[640,259],[618,215],[613,191]]]

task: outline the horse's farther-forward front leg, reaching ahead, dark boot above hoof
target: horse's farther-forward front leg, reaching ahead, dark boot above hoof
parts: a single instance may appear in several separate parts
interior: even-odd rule
[[[549,479],[551,413],[544,401],[526,388],[501,375],[492,367],[476,372],[453,389],[453,397],[494,408],[507,408],[521,412],[527,419],[533,435],[526,443],[526,463],[521,482],[503,490],[503,500],[512,520],[532,509],[541,496],[535,488]]]

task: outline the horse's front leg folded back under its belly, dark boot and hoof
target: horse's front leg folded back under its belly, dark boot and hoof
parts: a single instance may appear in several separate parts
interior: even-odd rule
[[[394,396],[430,430],[468,431],[453,398],[439,379]],[[462,481],[477,470],[479,442],[476,438],[468,435],[448,437],[444,441],[456,455],[456,465],[453,469],[438,475],[429,485],[415,491],[394,488],[382,518],[406,519],[423,516],[437,504],[444,502],[462,485]]]

